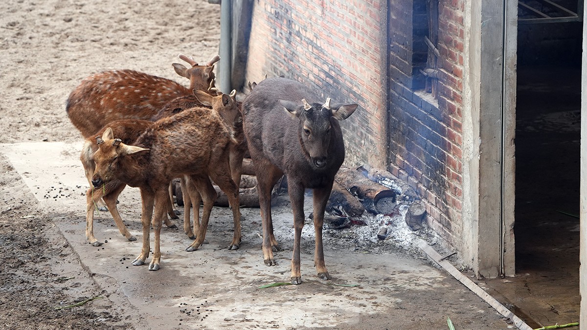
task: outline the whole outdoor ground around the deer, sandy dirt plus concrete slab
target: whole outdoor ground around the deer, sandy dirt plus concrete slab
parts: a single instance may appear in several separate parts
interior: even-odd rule
[[[189,243],[181,230],[164,230],[167,245],[157,272],[129,268],[140,245],[123,241],[107,213],[97,215],[95,233],[109,243],[87,244],[82,168],[49,169],[59,157],[77,161],[80,135],[65,113],[69,92],[86,76],[107,69],[181,82],[171,67],[181,62],[179,53],[204,61],[218,52],[220,6],[204,0],[7,0],[0,13],[0,144],[13,150],[11,156],[0,154],[1,327],[446,329],[450,316],[457,329],[512,328],[406,245],[413,234],[402,229],[384,242],[373,239],[377,226],[394,225],[389,217],[325,231],[326,264],[333,275],[326,283],[313,274],[312,228],[306,226],[305,283],[266,291],[258,286],[289,280],[286,198],[274,217],[286,247],[275,268],[262,264],[255,209],[243,211],[244,240],[237,252],[221,248],[231,237],[225,216],[230,212],[222,208],[213,211],[209,246],[191,254],[183,251]],[[35,173],[15,165],[27,155],[38,167]],[[129,230],[140,233],[137,191],[127,188],[120,199]],[[95,297],[102,298],[56,309]]]

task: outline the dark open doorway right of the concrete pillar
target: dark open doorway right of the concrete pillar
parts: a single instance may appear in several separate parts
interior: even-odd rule
[[[579,321],[582,23],[518,23],[517,275],[488,284],[539,328]]]

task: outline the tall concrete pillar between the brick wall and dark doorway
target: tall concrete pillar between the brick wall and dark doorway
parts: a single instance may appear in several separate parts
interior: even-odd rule
[[[515,271],[516,5],[465,2],[462,252],[478,277]]]

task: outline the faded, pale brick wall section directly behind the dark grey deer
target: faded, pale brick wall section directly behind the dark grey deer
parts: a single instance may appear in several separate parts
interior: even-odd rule
[[[245,80],[284,75],[321,90],[325,100],[358,103],[341,122],[346,163],[383,167],[385,17],[380,1],[255,1]]]

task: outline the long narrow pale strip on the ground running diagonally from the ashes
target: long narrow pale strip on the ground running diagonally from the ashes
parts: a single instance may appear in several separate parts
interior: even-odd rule
[[[514,322],[515,326],[518,327],[520,330],[532,330],[531,326],[527,325],[522,319],[516,316],[514,313],[507,309],[502,305],[497,299],[491,297],[487,292],[481,289],[477,284],[470,280],[470,278],[466,277],[457,270],[450,262],[443,260],[443,257],[438,254],[438,252],[434,251],[433,248],[430,247],[424,240],[418,240],[418,247],[424,251],[434,262],[436,262],[440,267],[444,268],[448,272],[448,274],[453,275],[459,282],[463,283],[465,287],[473,291],[474,294],[478,295],[479,298],[483,299],[487,304],[490,304],[498,313],[503,315],[505,318],[509,318]]]

